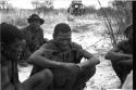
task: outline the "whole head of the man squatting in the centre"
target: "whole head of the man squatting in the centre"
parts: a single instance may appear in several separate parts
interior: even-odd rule
[[[71,27],[65,23],[60,23],[54,27],[53,39],[61,50],[65,51],[71,43]]]

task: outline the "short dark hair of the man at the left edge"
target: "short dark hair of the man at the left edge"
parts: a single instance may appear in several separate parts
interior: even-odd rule
[[[0,42],[5,44],[14,43],[16,39],[23,40],[21,30],[17,27],[7,23],[0,24]]]

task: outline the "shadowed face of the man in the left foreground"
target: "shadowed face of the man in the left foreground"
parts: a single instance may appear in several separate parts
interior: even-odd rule
[[[14,60],[20,59],[20,55],[23,51],[24,41],[25,40],[16,39],[14,43],[8,46],[7,54],[9,55],[9,57],[14,59]]]

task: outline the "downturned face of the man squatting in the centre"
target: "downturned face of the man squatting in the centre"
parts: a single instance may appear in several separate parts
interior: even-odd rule
[[[71,44],[71,33],[59,33],[54,40],[62,51],[69,50]]]

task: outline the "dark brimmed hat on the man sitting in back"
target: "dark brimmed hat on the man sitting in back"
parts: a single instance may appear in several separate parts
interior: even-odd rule
[[[45,23],[45,21],[40,18],[37,14],[32,14],[27,21],[29,24],[42,25]]]

